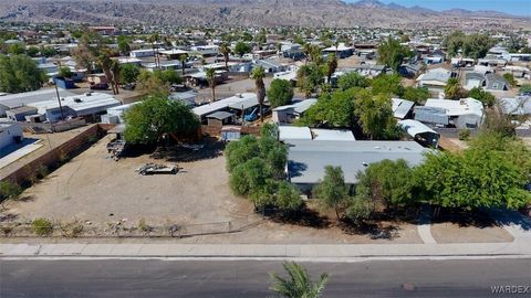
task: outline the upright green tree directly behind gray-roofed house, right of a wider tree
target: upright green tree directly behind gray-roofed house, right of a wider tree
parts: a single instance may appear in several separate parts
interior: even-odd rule
[[[363,132],[373,140],[394,139],[396,136],[396,119],[393,115],[391,97],[385,94],[373,96],[369,92],[360,92],[354,100],[355,113],[360,119]]]

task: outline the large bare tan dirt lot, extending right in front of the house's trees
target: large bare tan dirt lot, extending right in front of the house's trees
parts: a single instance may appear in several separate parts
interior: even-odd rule
[[[216,152],[199,159],[180,155],[176,175],[144,177],[135,169],[145,162],[169,163],[177,158],[142,155],[115,162],[106,152],[108,139],[25,190],[23,200],[7,203],[3,215],[18,222],[46,217],[65,223],[75,219],[93,226],[110,222],[136,226],[140,220],[149,225],[250,224],[238,233],[178,240],[184,243],[420,243],[416,225],[403,222],[382,222],[358,232],[336,226],[332,216],[316,221],[306,216],[296,223],[263,220],[249,202],[231,194],[225,157]]]

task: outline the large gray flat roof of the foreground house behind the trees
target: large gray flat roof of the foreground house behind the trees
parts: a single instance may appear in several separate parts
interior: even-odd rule
[[[354,184],[356,175],[368,164],[388,160],[406,160],[417,166],[429,152],[415,141],[320,141],[290,142],[288,172],[292,183],[315,184],[324,178],[324,167],[341,167],[345,182]]]

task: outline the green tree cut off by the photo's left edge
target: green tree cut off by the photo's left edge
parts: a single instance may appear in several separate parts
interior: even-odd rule
[[[46,79],[44,72],[27,55],[0,54],[0,92],[21,93],[37,91]]]

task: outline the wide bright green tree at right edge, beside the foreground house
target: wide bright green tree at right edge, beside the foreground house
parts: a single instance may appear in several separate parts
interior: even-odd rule
[[[442,207],[519,209],[531,202],[529,177],[497,151],[428,155],[416,170],[423,201]]]

